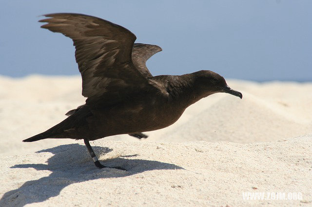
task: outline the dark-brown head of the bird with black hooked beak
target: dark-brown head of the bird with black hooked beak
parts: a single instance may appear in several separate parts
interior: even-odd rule
[[[225,79],[210,70],[200,70],[194,72],[195,87],[198,88],[203,96],[209,96],[214,93],[224,92],[242,98],[241,92],[231,89],[225,82]]]

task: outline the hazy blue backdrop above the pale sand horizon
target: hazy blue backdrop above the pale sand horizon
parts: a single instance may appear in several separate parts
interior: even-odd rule
[[[225,78],[312,81],[312,0],[4,0],[0,75],[78,74],[72,40],[39,15],[82,13],[163,51],[153,75],[213,70]]]

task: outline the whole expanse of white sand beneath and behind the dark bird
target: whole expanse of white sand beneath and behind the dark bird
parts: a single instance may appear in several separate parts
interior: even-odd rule
[[[80,77],[0,77],[0,206],[312,206],[312,84],[228,84],[242,100],[215,94],[145,140],[91,143],[123,172],[98,170],[81,141],[21,142],[83,104]],[[302,200],[247,201],[242,192]]]

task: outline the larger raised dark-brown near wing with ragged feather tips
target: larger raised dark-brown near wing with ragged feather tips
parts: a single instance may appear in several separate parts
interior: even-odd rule
[[[81,14],[48,14],[41,28],[70,37],[82,76],[86,103],[118,100],[125,94],[151,87],[133,65],[131,54],[136,36],[112,22]],[[152,86],[155,87],[155,86]]]

